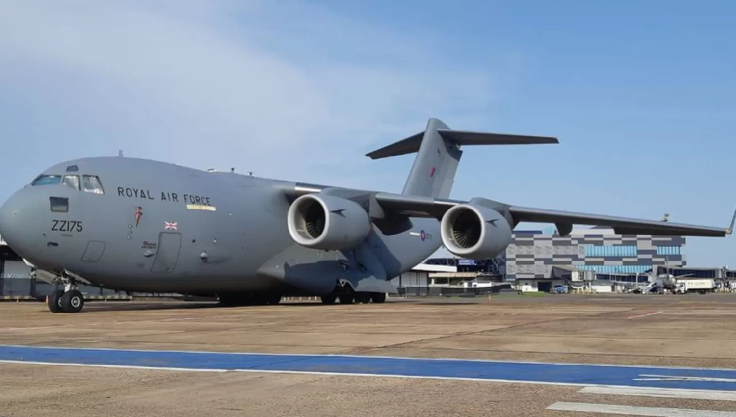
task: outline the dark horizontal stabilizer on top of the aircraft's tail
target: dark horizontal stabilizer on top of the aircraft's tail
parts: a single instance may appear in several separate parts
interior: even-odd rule
[[[436,129],[437,133],[447,143],[456,146],[462,145],[534,145],[540,143],[559,143],[557,138],[547,136],[506,135],[505,133],[467,132],[464,130]],[[366,154],[372,160],[396,157],[419,151],[425,132],[399,140],[391,145],[383,146]]]

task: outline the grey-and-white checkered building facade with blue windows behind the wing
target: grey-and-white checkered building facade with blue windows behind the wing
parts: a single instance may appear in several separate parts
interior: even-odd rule
[[[595,274],[643,274],[657,265],[687,265],[679,236],[617,235],[612,229],[518,231],[506,249],[506,279],[549,278],[552,267],[573,266]]]

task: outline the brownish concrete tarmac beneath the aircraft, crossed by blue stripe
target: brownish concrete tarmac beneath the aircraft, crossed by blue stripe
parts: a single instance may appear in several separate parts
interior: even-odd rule
[[[0,417],[736,417],[736,294],[0,303]]]

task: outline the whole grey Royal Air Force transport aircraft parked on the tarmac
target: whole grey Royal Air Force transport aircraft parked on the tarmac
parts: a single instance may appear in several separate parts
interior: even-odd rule
[[[367,154],[416,152],[403,192],[336,188],[200,171],[130,157],[54,165],[0,208],[10,247],[64,284],[54,313],[77,313],[79,285],[128,293],[277,304],[282,296],[381,303],[388,282],[441,245],[459,257],[506,250],[520,221],[610,226],[622,234],[721,237],[703,227],[448,199],[461,146],[558,143],[556,138],[464,132],[431,118],[424,132]]]

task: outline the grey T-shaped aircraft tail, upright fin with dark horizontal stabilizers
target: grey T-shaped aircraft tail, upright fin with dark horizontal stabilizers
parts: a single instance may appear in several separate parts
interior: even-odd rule
[[[462,145],[526,145],[559,143],[543,136],[505,135],[501,133],[453,130],[438,118],[430,118],[424,132],[399,140],[366,154],[378,160],[417,152],[403,194],[447,199],[460,163]]]

